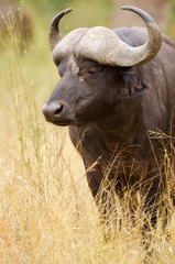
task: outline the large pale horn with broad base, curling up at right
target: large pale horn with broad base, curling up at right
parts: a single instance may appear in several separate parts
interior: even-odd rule
[[[141,46],[130,46],[119,35],[103,26],[90,29],[75,47],[76,56],[83,56],[99,64],[111,66],[140,66],[151,61],[160,51],[162,34],[154,20],[143,10],[134,7],[122,7],[138,13],[145,22],[149,40]]]

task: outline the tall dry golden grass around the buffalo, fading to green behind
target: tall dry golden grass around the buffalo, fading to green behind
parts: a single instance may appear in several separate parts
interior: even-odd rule
[[[62,23],[65,33],[79,25],[107,25],[113,2],[26,1],[24,9],[31,13],[33,38],[26,43],[21,40],[10,12],[8,35],[1,35],[0,263],[173,264],[174,218],[162,228],[162,210],[157,227],[150,228],[143,243],[143,217],[138,207],[135,222],[131,221],[125,197],[122,204],[116,198],[122,226],[113,219],[101,223],[67,129],[46,123],[41,112],[58,80],[47,44],[48,24],[57,11],[69,6],[74,12]],[[87,10],[90,12],[85,15]],[[173,37],[174,21],[169,14],[168,34]],[[174,150],[171,154],[165,151],[169,189],[163,200],[169,215],[173,154]]]

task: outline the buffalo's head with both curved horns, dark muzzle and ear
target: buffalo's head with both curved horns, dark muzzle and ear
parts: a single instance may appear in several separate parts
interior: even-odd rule
[[[156,55],[162,35],[147,13],[132,7],[122,9],[144,20],[149,33],[145,44],[129,45],[117,32],[103,26],[77,29],[62,38],[59,20],[72,9],[53,19],[48,42],[61,79],[43,107],[48,122],[81,125],[105,114],[107,109],[112,111],[121,97],[141,94],[147,87],[132,67],[146,64]]]

